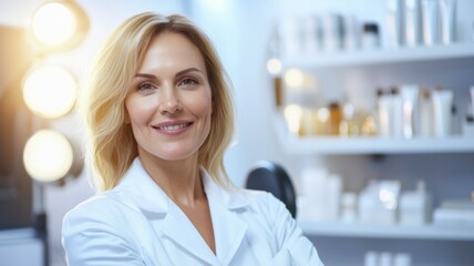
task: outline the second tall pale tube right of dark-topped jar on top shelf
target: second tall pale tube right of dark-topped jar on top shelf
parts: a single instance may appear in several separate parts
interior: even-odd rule
[[[405,43],[408,47],[420,44],[421,8],[420,0],[405,0]]]

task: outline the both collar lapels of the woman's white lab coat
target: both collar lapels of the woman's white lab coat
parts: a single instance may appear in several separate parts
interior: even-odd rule
[[[210,265],[228,265],[248,227],[238,213],[250,204],[250,200],[244,193],[220,187],[204,168],[202,178],[213,219],[217,258],[220,263],[216,262],[216,256],[199,233],[193,229],[194,225],[187,216],[146,173],[138,158],[132,163],[117,191],[126,194],[133,205],[152,223],[153,219],[162,219],[159,226],[155,227],[158,235],[167,236]]]

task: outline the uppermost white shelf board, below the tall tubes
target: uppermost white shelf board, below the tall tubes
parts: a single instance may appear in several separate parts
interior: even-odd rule
[[[416,47],[381,50],[341,51],[308,57],[282,59],[286,66],[317,69],[329,66],[361,66],[370,64],[404,63],[432,60],[453,60],[474,58],[474,43],[455,43],[451,45]]]

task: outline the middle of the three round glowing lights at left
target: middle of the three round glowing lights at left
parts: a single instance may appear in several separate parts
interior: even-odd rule
[[[23,82],[23,99],[37,115],[55,119],[71,111],[76,99],[74,76],[63,68],[47,65],[30,71]]]

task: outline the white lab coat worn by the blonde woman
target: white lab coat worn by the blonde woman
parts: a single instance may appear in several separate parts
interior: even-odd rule
[[[271,194],[224,190],[205,171],[203,182],[216,254],[136,158],[115,188],[64,216],[68,265],[322,265]]]

